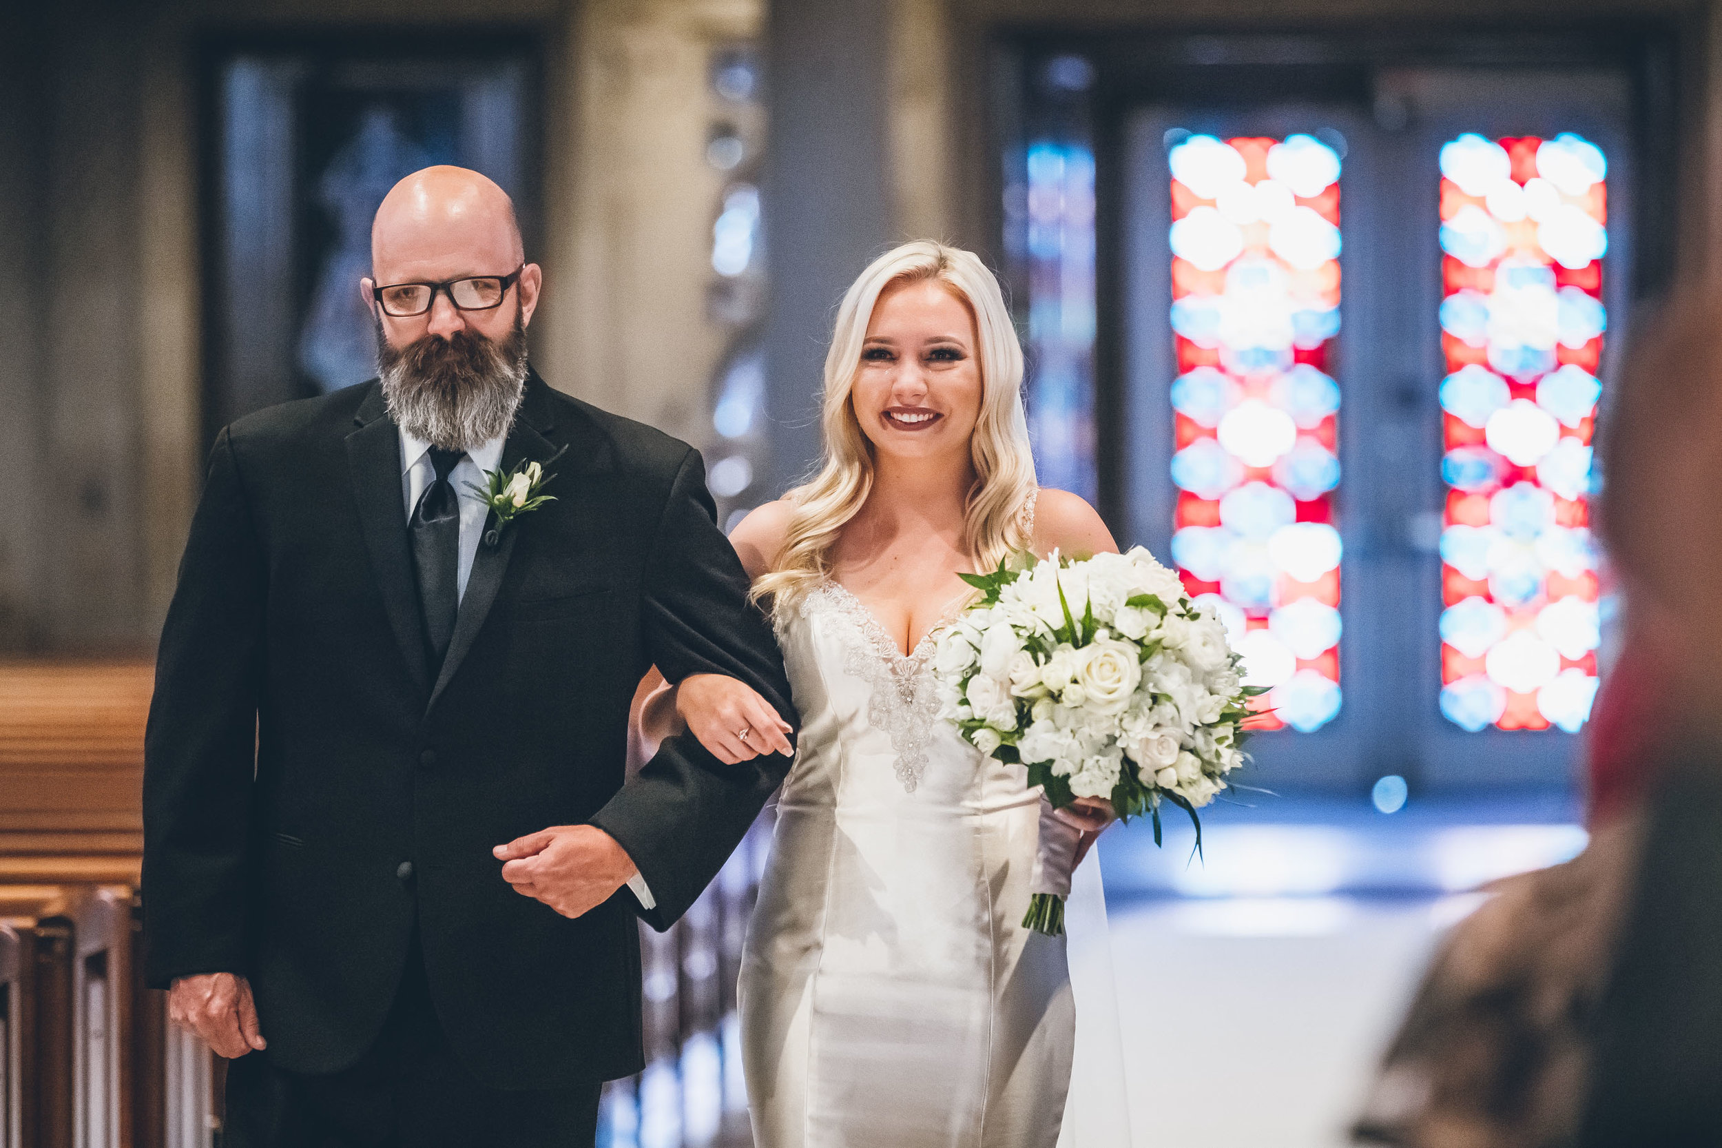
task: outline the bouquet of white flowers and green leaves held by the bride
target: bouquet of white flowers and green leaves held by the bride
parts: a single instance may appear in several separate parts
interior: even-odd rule
[[[1119,817],[1161,803],[1195,822],[1243,764],[1248,698],[1219,619],[1142,546],[964,574],[982,598],[938,638],[942,715],[982,753],[1028,765],[1054,808],[1107,798]],[[1023,924],[1057,936],[1075,836],[1050,850],[1042,817],[1035,895]],[[1059,822],[1054,822],[1059,824]]]

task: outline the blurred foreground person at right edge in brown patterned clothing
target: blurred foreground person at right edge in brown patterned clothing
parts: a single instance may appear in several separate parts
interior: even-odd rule
[[[1591,841],[1488,886],[1355,1127],[1419,1148],[1722,1145],[1722,291],[1645,324],[1601,427],[1626,638],[1588,738]]]

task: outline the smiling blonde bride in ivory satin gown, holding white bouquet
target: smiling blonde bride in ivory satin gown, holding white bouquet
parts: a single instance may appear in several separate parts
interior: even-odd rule
[[[938,719],[932,677],[959,574],[1116,550],[1088,503],[1037,490],[1021,379],[980,259],[882,255],[837,314],[821,469],[730,538],[802,721],[740,976],[759,1148],[1128,1143],[1099,872],[1069,938],[1021,926],[1040,793]],[[1111,812],[1061,817],[1092,839]]]

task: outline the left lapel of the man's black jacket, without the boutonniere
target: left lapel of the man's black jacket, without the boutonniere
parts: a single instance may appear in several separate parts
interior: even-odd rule
[[[406,658],[413,684],[430,686],[424,626],[418,617],[418,583],[406,545],[406,507],[401,502],[401,434],[386,417],[382,388],[372,386],[360,405],[356,431],[346,436],[346,462],[353,472],[353,496],[358,500],[358,524],[370,552],[370,567],[382,591],[382,608],[389,615],[394,640]]]

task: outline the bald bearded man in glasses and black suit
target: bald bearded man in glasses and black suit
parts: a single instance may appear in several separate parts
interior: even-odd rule
[[[789,767],[699,455],[537,377],[541,288],[501,188],[408,176],[360,284],[379,377],[210,453],[143,888],[150,981],[236,1058],[229,1148],[591,1145],[642,1067],[635,915],[668,927]],[[749,752],[673,736],[625,779],[651,665]]]

